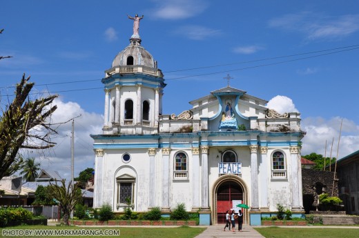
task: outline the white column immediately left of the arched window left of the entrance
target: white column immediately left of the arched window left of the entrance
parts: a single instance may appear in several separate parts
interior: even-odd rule
[[[162,148],[162,211],[170,210],[170,148]]]

